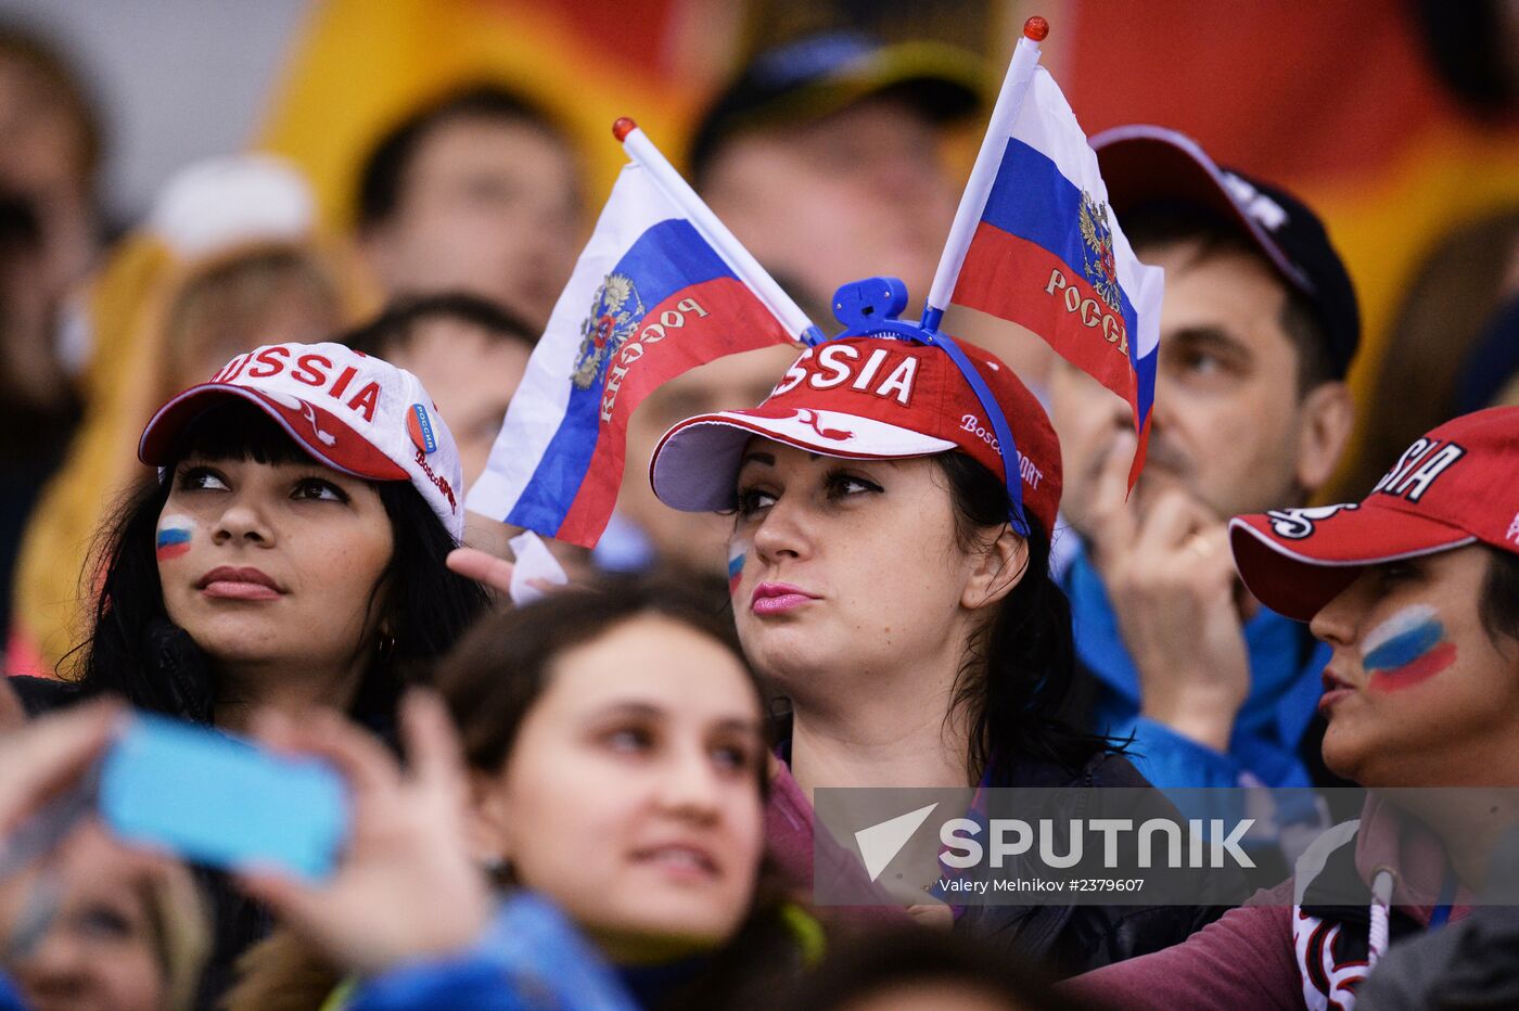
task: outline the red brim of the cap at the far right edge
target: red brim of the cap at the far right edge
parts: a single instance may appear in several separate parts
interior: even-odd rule
[[[1312,621],[1366,566],[1449,551],[1476,537],[1419,513],[1361,502],[1235,516],[1229,540],[1256,600]]]

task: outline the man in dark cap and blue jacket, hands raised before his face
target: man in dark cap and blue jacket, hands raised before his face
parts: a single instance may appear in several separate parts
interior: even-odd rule
[[[1129,405],[1063,363],[1051,381],[1085,718],[1132,733],[1157,786],[1326,782],[1326,651],[1240,584],[1227,519],[1303,506],[1334,471],[1353,414],[1355,291],[1312,211],[1189,138],[1126,126],[1092,147],[1136,254],[1165,269],[1165,302],[1129,501]]]

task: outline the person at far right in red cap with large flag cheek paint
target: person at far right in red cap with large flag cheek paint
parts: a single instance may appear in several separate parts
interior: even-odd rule
[[[1232,537],[1250,592],[1334,648],[1329,768],[1373,791],[1519,786],[1519,408],[1440,425],[1360,504],[1241,516]],[[1519,823],[1511,795],[1373,792],[1293,880],[1071,990],[1124,1008],[1206,993],[1217,1006],[1349,1011],[1390,944],[1467,915]]]

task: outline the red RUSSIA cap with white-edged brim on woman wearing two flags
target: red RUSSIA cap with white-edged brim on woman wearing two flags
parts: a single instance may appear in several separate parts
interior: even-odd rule
[[[1033,393],[995,355],[957,342],[990,387],[1018,443],[1024,509],[1045,533],[1060,509],[1060,442]],[[753,436],[828,457],[892,460],[958,449],[1006,477],[992,422],[940,348],[848,337],[808,348],[764,404],[688,417],[659,440],[649,480],[667,506],[717,512],[735,502]]]

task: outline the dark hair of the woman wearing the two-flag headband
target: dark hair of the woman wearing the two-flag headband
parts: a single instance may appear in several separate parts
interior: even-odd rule
[[[949,481],[960,545],[974,550],[983,531],[1007,522],[1007,489],[963,452],[933,460]],[[992,767],[998,780],[1019,759],[1074,773],[1095,754],[1121,750],[1063,715],[1075,680],[1071,601],[1050,577],[1048,531],[1033,516],[1028,528],[1024,575],[972,644],[954,691],[954,707],[971,727],[968,768]]]

